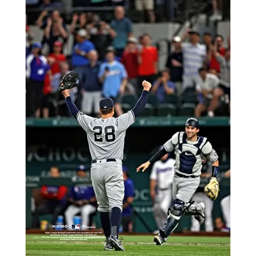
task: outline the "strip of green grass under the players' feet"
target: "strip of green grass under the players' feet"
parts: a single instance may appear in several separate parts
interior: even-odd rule
[[[49,236],[49,235],[48,235]],[[50,236],[49,236],[50,237]],[[154,236],[123,236],[125,252],[104,251],[104,238],[79,238],[61,240],[47,235],[26,235],[27,256],[82,256],[82,255],[230,255],[230,237],[170,236],[163,246],[156,246]]]

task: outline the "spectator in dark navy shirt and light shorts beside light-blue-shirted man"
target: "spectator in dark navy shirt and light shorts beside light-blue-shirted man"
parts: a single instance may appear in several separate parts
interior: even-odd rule
[[[98,61],[97,51],[90,51],[88,53],[88,59],[90,63],[84,67],[85,83],[81,89],[81,107],[86,115],[91,115],[93,112],[99,117],[99,102],[102,98],[102,84],[98,79],[100,61]]]

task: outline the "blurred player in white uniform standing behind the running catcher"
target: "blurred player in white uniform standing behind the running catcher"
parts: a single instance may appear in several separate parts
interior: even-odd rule
[[[168,208],[172,202],[174,163],[175,160],[166,154],[154,163],[150,174],[150,196],[154,202],[153,214],[159,229],[166,221]],[[158,233],[159,230],[156,230],[156,234]]]

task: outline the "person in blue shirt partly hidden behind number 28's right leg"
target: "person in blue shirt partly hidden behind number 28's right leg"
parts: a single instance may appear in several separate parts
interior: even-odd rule
[[[132,207],[134,197],[134,184],[129,178],[127,167],[123,165],[124,175],[124,201],[122,211],[122,227],[123,232],[132,232]]]

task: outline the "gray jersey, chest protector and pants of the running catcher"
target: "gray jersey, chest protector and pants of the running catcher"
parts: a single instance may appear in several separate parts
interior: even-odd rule
[[[202,161],[208,159],[214,163],[218,155],[207,138],[198,136],[198,140],[188,141],[186,132],[175,133],[164,143],[164,149],[175,153],[173,199],[188,203],[200,184]]]

